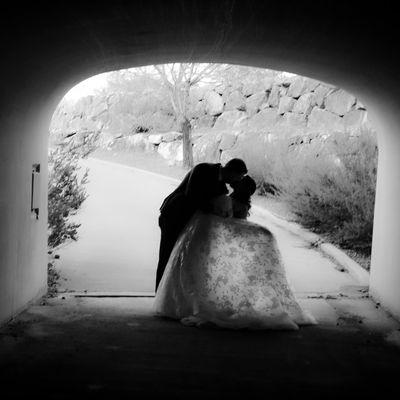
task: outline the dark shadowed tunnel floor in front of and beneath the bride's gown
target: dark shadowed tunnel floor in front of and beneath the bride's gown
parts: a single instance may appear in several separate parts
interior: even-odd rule
[[[385,396],[400,325],[360,293],[298,296],[319,322],[299,331],[185,327],[152,298],[42,299],[0,329],[1,398]]]

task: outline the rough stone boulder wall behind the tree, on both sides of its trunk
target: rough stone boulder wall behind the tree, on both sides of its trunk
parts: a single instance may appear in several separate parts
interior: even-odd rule
[[[182,162],[182,135],[176,132],[170,118],[159,121],[158,125],[167,132],[134,133],[129,117],[124,119],[119,115],[118,120],[109,115],[109,108],[107,102],[95,98],[82,100],[72,114],[58,110],[52,131],[77,137],[96,131],[100,132],[103,147],[126,142],[133,148],[157,151],[171,164]],[[249,75],[240,82],[194,88],[191,110],[196,162],[227,161],[240,154],[243,143],[255,137],[257,143],[267,146],[276,138],[296,140],[370,129],[367,110],[351,94],[323,82],[285,73],[261,78]],[[168,131],[171,128],[175,130]]]

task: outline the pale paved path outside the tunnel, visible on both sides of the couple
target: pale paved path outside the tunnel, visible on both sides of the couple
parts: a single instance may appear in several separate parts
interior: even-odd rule
[[[61,290],[152,292],[160,231],[158,208],[177,185],[161,175],[88,159],[89,197],[76,220],[79,240],[58,253]],[[356,285],[348,274],[308,243],[265,216],[252,215],[277,237],[287,276],[298,294],[340,292]]]

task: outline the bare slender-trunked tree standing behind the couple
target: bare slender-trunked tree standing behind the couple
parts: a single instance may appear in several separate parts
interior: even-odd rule
[[[175,118],[183,135],[183,166],[193,167],[193,150],[190,122],[190,89],[201,82],[211,83],[216,72],[226,68],[222,64],[173,63],[154,65],[167,89]]]

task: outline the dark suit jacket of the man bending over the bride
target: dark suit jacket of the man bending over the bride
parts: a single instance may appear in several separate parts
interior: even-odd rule
[[[165,198],[161,215],[189,219],[196,210],[209,211],[213,197],[227,194],[220,180],[221,164],[200,163],[192,168],[180,185]]]

